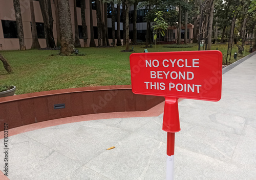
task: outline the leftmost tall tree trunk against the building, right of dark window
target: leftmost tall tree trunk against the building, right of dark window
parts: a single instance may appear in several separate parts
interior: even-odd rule
[[[19,0],[13,0],[13,7],[15,10],[15,17],[16,17],[16,23],[17,23],[19,49],[26,50],[24,32],[23,32],[23,23],[22,23],[22,13],[20,12]]]

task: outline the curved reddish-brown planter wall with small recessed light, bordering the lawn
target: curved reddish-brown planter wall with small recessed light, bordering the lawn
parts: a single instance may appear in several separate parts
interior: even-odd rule
[[[0,98],[0,131],[36,122],[86,114],[146,111],[164,101],[137,95],[130,85],[84,87]]]

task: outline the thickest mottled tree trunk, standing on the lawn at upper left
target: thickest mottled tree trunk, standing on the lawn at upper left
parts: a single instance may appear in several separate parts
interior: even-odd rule
[[[69,56],[74,53],[71,15],[68,0],[57,0],[59,11],[60,53]]]

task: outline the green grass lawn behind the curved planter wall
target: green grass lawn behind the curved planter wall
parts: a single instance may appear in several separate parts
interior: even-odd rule
[[[132,46],[131,46],[132,47]],[[212,44],[211,49],[223,53],[226,62],[227,44]],[[55,89],[85,86],[127,85],[131,84],[129,56],[119,47],[78,48],[85,56],[64,57],[58,50],[11,50],[0,53],[8,60],[14,73],[8,74],[0,62],[0,84],[16,86],[15,94],[24,94]],[[165,48],[163,45],[147,48],[148,52],[177,52],[197,50],[198,46],[188,48]],[[142,53],[143,45],[134,46],[135,52]],[[232,49],[238,52],[237,46]],[[244,56],[249,53],[246,45]],[[238,56],[238,59],[241,57]],[[231,57],[231,62],[234,62]]]

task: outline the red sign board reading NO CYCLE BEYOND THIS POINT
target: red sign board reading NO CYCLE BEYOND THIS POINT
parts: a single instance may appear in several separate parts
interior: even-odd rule
[[[221,98],[222,54],[218,50],[134,53],[130,65],[135,94]]]

